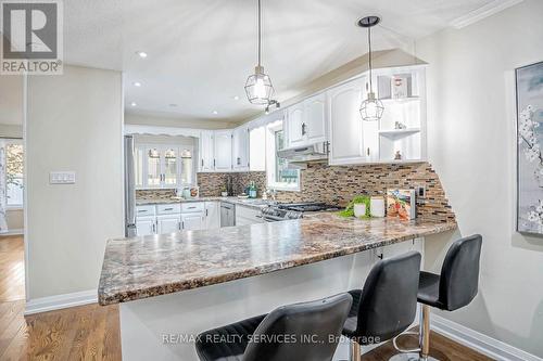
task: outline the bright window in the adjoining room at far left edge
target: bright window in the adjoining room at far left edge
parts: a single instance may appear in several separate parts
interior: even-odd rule
[[[5,143],[5,203],[8,207],[23,207],[23,143]]]

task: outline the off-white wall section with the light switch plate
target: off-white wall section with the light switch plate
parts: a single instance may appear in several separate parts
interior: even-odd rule
[[[27,112],[27,298],[97,289],[105,241],[124,234],[122,75],[30,77]],[[49,184],[54,170],[76,183]]]

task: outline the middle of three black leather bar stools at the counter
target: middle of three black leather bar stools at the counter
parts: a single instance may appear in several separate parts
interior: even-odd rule
[[[380,260],[369,272],[364,288],[349,292],[353,306],[343,335],[352,340],[353,361],[361,359],[361,345],[391,339],[415,320],[420,258],[419,253],[409,252]]]

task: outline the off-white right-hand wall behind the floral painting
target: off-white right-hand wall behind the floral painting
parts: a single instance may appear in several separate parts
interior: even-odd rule
[[[417,55],[430,64],[430,162],[462,235],[483,235],[479,295],[440,314],[539,357],[543,238],[515,232],[514,69],[543,61],[542,16],[543,1],[526,0],[417,43]],[[427,255],[442,257],[444,249],[429,243]],[[427,266],[439,270],[441,259]]]

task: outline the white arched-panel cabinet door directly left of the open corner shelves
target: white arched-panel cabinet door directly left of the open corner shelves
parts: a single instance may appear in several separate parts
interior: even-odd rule
[[[359,106],[364,80],[356,79],[328,91],[330,165],[364,163]]]

